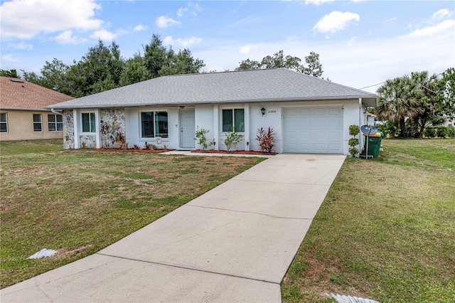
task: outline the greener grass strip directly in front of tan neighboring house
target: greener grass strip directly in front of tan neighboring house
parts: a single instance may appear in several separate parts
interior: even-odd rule
[[[44,151],[62,151],[63,139],[0,141],[0,155],[33,154]]]

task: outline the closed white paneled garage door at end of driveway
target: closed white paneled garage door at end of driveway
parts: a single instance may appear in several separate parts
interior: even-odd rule
[[[285,108],[284,152],[343,154],[341,107]]]

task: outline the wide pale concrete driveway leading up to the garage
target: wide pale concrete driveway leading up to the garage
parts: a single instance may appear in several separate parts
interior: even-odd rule
[[[280,283],[345,156],[279,154],[1,302],[281,302]]]

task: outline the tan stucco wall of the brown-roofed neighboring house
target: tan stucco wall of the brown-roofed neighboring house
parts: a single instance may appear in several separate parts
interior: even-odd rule
[[[63,139],[63,132],[49,132],[48,114],[50,111],[40,110],[3,110],[8,115],[8,132],[0,132],[1,141]],[[33,114],[41,114],[43,124],[41,132],[33,132]]]

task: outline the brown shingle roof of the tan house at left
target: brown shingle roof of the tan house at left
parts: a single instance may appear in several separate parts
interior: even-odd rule
[[[17,78],[0,77],[0,107],[42,109],[48,105],[74,99]]]

